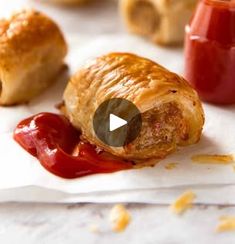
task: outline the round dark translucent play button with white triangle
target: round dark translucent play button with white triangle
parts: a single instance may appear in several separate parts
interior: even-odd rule
[[[112,147],[123,147],[134,141],[141,127],[142,118],[139,109],[123,98],[104,101],[93,117],[96,136]]]

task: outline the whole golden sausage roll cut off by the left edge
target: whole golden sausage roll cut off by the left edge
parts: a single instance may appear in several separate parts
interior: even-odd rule
[[[0,20],[0,104],[27,102],[43,91],[66,53],[59,27],[40,12],[22,10]]]

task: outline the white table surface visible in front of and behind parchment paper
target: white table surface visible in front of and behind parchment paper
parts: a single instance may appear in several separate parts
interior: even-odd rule
[[[44,3],[43,3],[44,2]],[[82,8],[45,4],[46,0],[0,0],[0,16],[34,7],[53,17],[65,34],[97,36],[124,32],[115,0],[96,0]],[[2,118],[1,118],[2,119]],[[235,243],[235,232],[215,233],[221,215],[235,215],[235,206],[194,206],[174,216],[165,205],[128,204],[131,224],[113,233],[105,204],[0,204],[0,243]],[[98,233],[89,229],[96,225]],[[180,226],[181,232],[174,231]]]

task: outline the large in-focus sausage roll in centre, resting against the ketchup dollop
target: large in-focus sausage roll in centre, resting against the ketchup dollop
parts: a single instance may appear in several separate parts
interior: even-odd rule
[[[93,115],[111,98],[127,99],[141,112],[141,132],[124,147],[110,147],[94,133]],[[198,95],[182,77],[128,53],[111,53],[81,68],[69,81],[64,102],[66,115],[85,139],[137,161],[161,159],[178,146],[198,142],[204,124]]]

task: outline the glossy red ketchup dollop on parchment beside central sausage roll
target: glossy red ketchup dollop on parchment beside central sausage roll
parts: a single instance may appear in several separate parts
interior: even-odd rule
[[[80,133],[62,115],[40,113],[25,119],[15,129],[14,139],[45,169],[63,178],[132,168],[131,162],[80,141]]]

